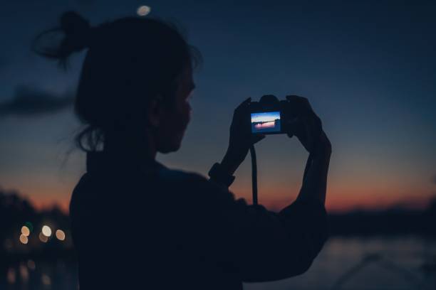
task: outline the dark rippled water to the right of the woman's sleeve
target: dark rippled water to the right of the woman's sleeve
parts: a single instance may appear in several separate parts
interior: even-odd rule
[[[308,272],[281,281],[244,284],[244,289],[436,289],[436,273],[422,271],[426,262],[436,263],[435,240],[335,237],[328,240]],[[337,284],[351,269],[355,272]]]

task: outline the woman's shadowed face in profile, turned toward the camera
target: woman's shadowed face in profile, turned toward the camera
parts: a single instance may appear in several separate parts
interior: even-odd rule
[[[157,151],[177,151],[191,119],[190,99],[194,90],[191,65],[187,65],[177,78],[178,86],[173,106],[167,106],[157,130]]]

